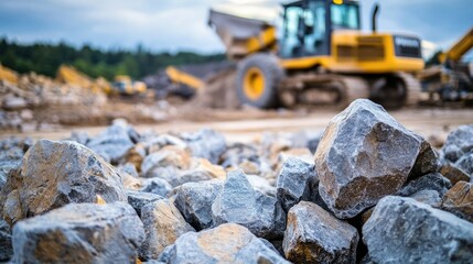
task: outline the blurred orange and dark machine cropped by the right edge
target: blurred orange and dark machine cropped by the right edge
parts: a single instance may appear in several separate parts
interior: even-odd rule
[[[472,47],[473,28],[448,51],[437,54],[439,65],[419,73],[422,89],[429,94],[429,102],[473,100],[473,63],[461,61]]]

